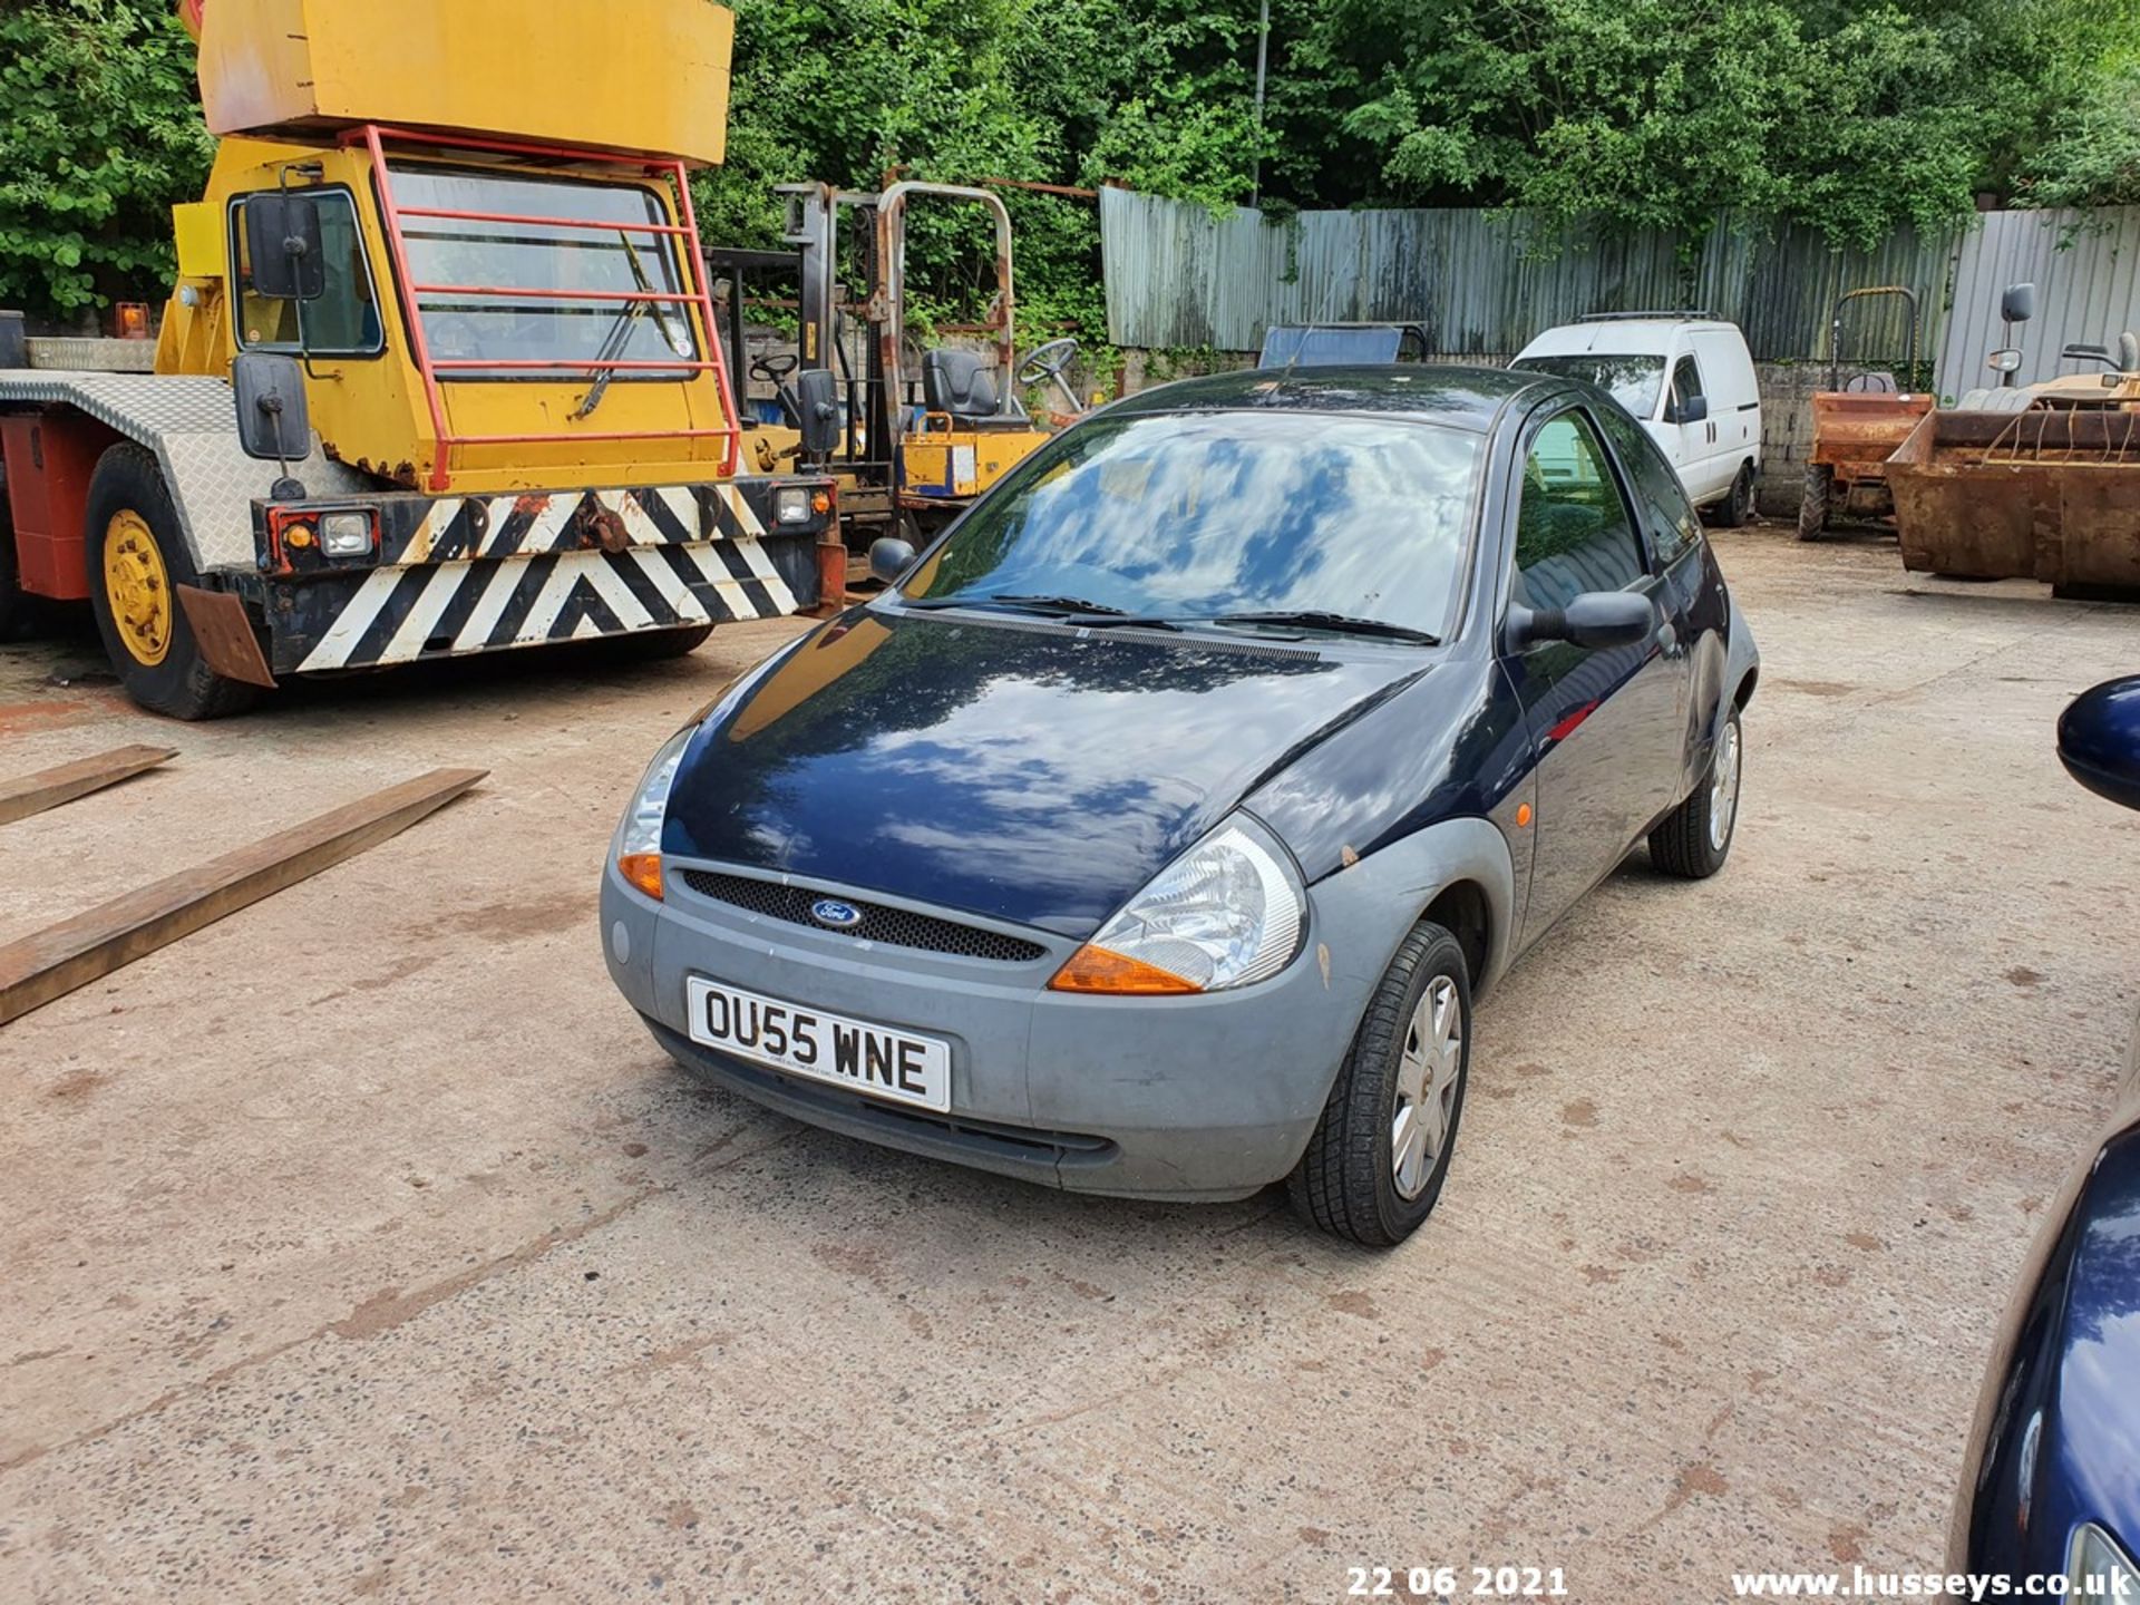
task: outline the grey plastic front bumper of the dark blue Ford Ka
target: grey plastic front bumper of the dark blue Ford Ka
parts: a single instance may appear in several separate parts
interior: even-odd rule
[[[1027,963],[867,944],[698,897],[674,869],[661,903],[614,867],[606,871],[603,957],[655,1040],[687,1070],[796,1119],[1053,1188],[1239,1198],[1299,1160],[1367,993],[1412,918],[1370,929],[1391,916],[1372,918],[1357,888],[1344,886],[1350,880],[1325,882],[1340,886],[1335,897],[1310,895],[1308,942],[1288,969],[1198,997],[1051,993],[1049,978],[1076,944],[1046,931],[1002,927],[1046,946]],[[1355,937],[1344,944],[1348,963],[1325,963],[1329,916]],[[950,1113],[693,1044],[689,976],[946,1038]]]

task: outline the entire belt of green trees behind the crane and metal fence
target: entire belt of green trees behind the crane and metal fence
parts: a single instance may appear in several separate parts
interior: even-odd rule
[[[732,2],[728,165],[696,182],[721,244],[779,244],[775,184],[890,167],[1838,244],[1986,188],[2140,203],[2140,0],[1271,0],[1260,126],[1260,0]],[[0,0],[0,304],[160,293],[212,150],[165,0]],[[1006,201],[1021,340],[1096,347],[1098,208]],[[916,212],[916,317],[972,321],[991,276],[980,210]]]

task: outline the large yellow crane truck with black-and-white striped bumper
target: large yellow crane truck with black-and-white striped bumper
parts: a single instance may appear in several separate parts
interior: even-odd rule
[[[173,208],[154,372],[0,370],[0,614],[86,597],[126,691],[201,719],[287,676],[685,653],[817,599],[835,486],[738,471],[691,214],[728,9],[180,11],[220,143]]]

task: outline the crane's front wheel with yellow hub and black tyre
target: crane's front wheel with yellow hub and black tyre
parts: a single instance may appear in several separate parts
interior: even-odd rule
[[[90,475],[83,518],[90,612],[126,696],[173,719],[220,719],[248,708],[257,687],[208,668],[178,586],[199,584],[156,458],[113,445]]]

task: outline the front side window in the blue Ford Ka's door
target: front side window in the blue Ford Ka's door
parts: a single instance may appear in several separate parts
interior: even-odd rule
[[[1644,576],[1635,522],[1590,417],[1571,409],[1547,419],[1524,456],[1511,599],[1564,608],[1584,591],[1624,591]]]

